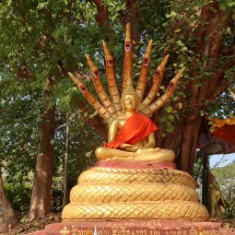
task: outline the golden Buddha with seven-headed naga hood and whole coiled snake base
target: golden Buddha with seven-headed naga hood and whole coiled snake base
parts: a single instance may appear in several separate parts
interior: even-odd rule
[[[114,71],[114,59],[103,42],[106,75],[111,101],[105,92],[96,66],[86,55],[99,103],[78,78],[69,73],[87,102],[103,117],[108,128],[108,142],[95,151],[95,166],[83,172],[62,211],[63,221],[116,221],[185,219],[204,221],[209,214],[199,203],[196,183],[187,173],[175,169],[175,154],[155,148],[157,127],[148,118],[173,94],[181,69],[166,92],[156,101],[166,56],[153,75],[153,85],[143,98],[152,40],[144,55],[136,90],[132,86],[130,25],[125,39],[122,95]]]

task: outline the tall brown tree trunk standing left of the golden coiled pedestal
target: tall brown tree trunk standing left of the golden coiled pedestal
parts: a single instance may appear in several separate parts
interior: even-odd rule
[[[49,104],[52,82],[49,81],[44,91],[45,105]],[[51,199],[54,146],[51,140],[55,136],[55,107],[47,107],[43,114],[44,122],[40,126],[40,141],[36,161],[34,186],[31,196],[27,220],[33,221],[48,214]]]

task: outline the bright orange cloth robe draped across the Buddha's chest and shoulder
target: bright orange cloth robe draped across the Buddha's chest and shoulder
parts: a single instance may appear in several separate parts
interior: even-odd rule
[[[134,113],[127,119],[115,140],[105,143],[105,146],[118,149],[122,143],[134,144],[144,140],[144,138],[156,130],[157,127],[150,120],[150,118],[139,113]]]

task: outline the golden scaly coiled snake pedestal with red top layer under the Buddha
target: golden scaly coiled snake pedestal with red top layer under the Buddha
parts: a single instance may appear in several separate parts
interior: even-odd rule
[[[209,214],[199,202],[192,177],[174,169],[173,165],[98,162],[80,175],[70,193],[71,202],[62,211],[62,220],[207,221]]]

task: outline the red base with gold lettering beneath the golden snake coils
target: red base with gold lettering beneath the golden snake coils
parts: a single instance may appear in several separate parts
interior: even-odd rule
[[[31,235],[232,235],[233,231],[222,228],[221,223],[166,221],[118,221],[118,222],[62,222],[49,224],[44,231]],[[89,234],[87,234],[89,235]]]

